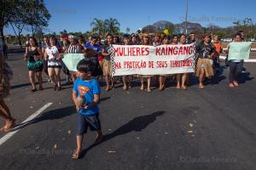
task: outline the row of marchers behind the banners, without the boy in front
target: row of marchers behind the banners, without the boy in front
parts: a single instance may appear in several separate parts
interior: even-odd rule
[[[242,32],[238,32],[234,37],[235,42],[241,42],[243,38]],[[195,74],[183,73],[177,75],[158,75],[158,76],[124,76],[118,78],[111,77],[111,51],[112,44],[123,45],[184,45],[196,44],[196,67]],[[229,48],[229,46],[228,46]],[[30,37],[27,42],[25,60],[29,71],[29,79],[32,83],[32,92],[43,90],[42,71],[48,77],[48,81],[52,83],[55,90],[61,90],[61,70],[66,75],[66,82],[75,82],[77,73],[68,71],[67,66],[61,61],[61,54],[84,54],[85,59],[90,59],[95,63],[95,77],[104,77],[106,81],[105,90],[108,91],[114,87],[117,81],[123,82],[123,89],[127,90],[132,87],[132,81],[135,77],[140,79],[140,89],[151,92],[152,77],[157,77],[160,91],[165,89],[166,77],[172,76],[172,80],[177,82],[178,89],[187,89],[194,75],[198,77],[199,88],[204,89],[206,77],[214,77],[214,73],[218,70],[219,55],[223,52],[222,43],[218,36],[210,34],[203,35],[202,38],[197,38],[195,33],[190,33],[189,37],[184,34],[173,35],[172,37],[161,34],[131,34],[123,37],[108,34],[105,40],[101,37],[92,36],[87,41],[83,37],[69,35],[68,38],[58,41],[56,37],[44,37],[41,45],[38,45],[35,38]],[[228,51],[227,51],[228,54]],[[242,60],[229,60],[230,63],[230,88],[238,86],[238,77],[241,74],[243,66]],[[35,76],[38,78],[39,87],[36,88]],[[154,78],[155,79],[155,78]],[[97,79],[98,80],[98,79]],[[144,80],[147,84],[144,85]]]

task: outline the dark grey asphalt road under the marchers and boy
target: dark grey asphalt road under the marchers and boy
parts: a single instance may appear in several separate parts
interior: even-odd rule
[[[101,95],[104,141],[93,145],[96,133],[89,131],[82,158],[72,160],[72,87],[64,85],[55,92],[44,82],[44,91],[32,94],[20,56],[10,55],[9,60],[15,79],[6,102],[13,116],[23,122],[47,103],[53,105],[0,145],[1,169],[256,169],[256,63],[245,65],[247,71],[235,89],[227,86],[223,63],[218,81],[209,82],[205,90],[196,85],[177,90],[168,81],[164,92],[152,87],[148,94],[138,87],[123,91],[118,84]]]

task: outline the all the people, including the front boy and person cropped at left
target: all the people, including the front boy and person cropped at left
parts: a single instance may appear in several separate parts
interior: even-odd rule
[[[242,32],[236,33],[234,42],[241,42],[243,38]],[[67,82],[73,83],[73,103],[79,114],[77,114],[77,148],[73,152],[73,158],[78,159],[82,152],[82,144],[84,133],[87,128],[96,131],[95,144],[102,142],[102,127],[99,119],[98,102],[100,100],[101,88],[97,77],[105,77],[107,82],[106,91],[114,87],[114,79],[111,77],[111,46],[113,44],[123,45],[146,45],[160,46],[166,45],[185,45],[195,43],[195,51],[197,55],[195,76],[199,80],[199,88],[204,89],[204,81],[206,77],[213,77],[219,66],[219,55],[223,52],[222,44],[218,40],[218,36],[205,34],[202,39],[196,38],[194,33],[189,37],[184,34],[172,37],[155,34],[153,37],[148,34],[132,34],[124,35],[123,37],[113,36],[108,34],[105,41],[100,37],[90,37],[88,42],[85,42],[82,37],[68,36],[68,39],[58,41],[56,37],[44,37],[44,41],[38,45],[34,37],[30,37],[24,60],[26,61],[29,79],[32,84],[32,93],[37,90],[43,90],[43,74],[47,75],[49,82],[52,83],[54,90],[61,90],[61,71],[64,72]],[[229,46],[228,46],[229,49]],[[227,54],[229,51],[227,51]],[[67,66],[62,62],[61,54],[84,54],[84,59],[79,61],[76,72],[69,71]],[[0,55],[3,55],[0,53]],[[9,65],[0,56],[0,114],[5,120],[5,124],[0,128],[0,132],[9,132],[12,127],[15,127],[15,119],[11,116],[8,106],[4,103],[4,98],[9,95],[10,79],[12,71]],[[228,59],[230,65],[230,82],[229,87],[235,88],[238,86],[238,78],[241,75],[243,60]],[[178,89],[187,89],[189,78],[193,77],[193,73],[183,73],[171,75],[172,80],[177,82]],[[170,75],[158,75],[159,89],[165,89],[166,77]],[[38,88],[36,88],[35,77],[38,79]],[[96,77],[96,78],[94,78]],[[140,76],[129,75],[119,77],[123,82],[123,89],[131,88],[134,77],[140,79],[140,89],[151,92],[151,79],[156,76]],[[147,80],[147,88],[144,88],[144,79]]]

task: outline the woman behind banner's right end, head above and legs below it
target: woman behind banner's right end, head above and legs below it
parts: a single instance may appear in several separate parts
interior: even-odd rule
[[[179,38],[178,45],[185,45],[186,44],[186,36],[182,34]],[[183,73],[183,74],[177,74],[177,89],[187,89],[185,86],[185,82],[187,79],[188,73]]]

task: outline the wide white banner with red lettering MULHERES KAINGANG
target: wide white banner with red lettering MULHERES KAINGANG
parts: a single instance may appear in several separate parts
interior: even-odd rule
[[[113,45],[112,75],[168,75],[195,71],[195,45]]]

